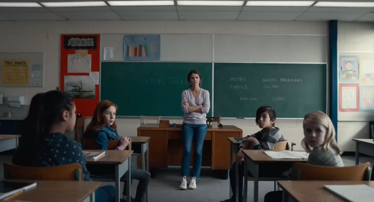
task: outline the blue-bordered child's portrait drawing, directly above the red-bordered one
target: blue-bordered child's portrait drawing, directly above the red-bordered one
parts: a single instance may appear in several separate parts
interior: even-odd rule
[[[339,81],[358,82],[358,56],[339,56]]]

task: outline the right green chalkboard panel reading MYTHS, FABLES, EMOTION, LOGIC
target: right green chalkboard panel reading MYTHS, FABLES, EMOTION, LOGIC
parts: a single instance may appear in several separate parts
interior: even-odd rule
[[[255,117],[262,105],[278,118],[326,112],[326,64],[214,63],[214,116]]]

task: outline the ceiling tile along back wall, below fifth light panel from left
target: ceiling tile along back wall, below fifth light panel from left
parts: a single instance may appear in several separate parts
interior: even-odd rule
[[[240,20],[294,20],[303,12],[241,12]]]

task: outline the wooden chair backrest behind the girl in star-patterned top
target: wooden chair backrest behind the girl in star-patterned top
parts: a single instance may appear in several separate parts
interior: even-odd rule
[[[28,167],[4,163],[6,180],[71,180],[83,181],[82,166],[71,163],[60,166]]]

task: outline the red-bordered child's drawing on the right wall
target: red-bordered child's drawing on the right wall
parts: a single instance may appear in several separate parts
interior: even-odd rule
[[[358,111],[358,83],[339,84],[339,111]]]

